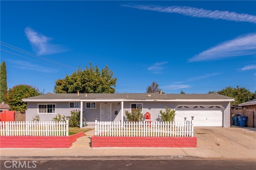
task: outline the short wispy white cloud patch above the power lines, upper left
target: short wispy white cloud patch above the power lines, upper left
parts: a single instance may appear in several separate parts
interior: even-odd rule
[[[36,32],[30,27],[26,27],[24,31],[26,33],[28,41],[32,45],[37,55],[51,55],[66,51],[60,45],[51,44],[50,41],[52,40],[52,38],[46,37],[45,35]]]

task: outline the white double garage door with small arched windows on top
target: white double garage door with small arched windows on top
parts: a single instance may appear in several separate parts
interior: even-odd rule
[[[175,121],[191,120],[194,126],[222,127],[222,108],[220,106],[178,106]]]

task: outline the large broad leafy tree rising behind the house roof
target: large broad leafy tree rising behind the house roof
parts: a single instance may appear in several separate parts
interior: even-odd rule
[[[80,93],[115,93],[117,78],[113,76],[114,72],[107,65],[100,70],[97,65],[94,67],[90,63],[90,68],[86,66],[86,69],[81,70],[79,67],[71,75],[57,80],[54,92],[76,93],[79,90]]]

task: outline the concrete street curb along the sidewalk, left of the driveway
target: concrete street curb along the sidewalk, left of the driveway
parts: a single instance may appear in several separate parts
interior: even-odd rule
[[[1,156],[1,160],[12,159],[196,159],[197,156]]]

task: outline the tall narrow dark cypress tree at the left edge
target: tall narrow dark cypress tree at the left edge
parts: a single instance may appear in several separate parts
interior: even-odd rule
[[[3,61],[0,65],[0,102],[6,102],[4,93],[7,92],[6,65]]]

